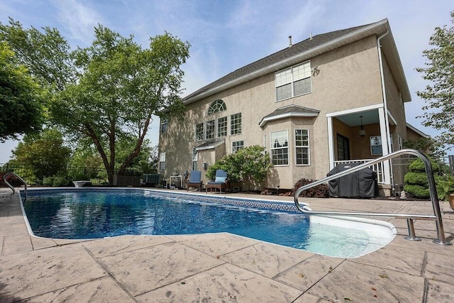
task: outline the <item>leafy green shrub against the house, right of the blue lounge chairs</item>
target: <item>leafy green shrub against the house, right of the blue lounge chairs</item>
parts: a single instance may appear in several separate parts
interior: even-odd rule
[[[246,188],[258,187],[272,167],[270,157],[264,151],[265,148],[253,145],[225,155],[209,167],[206,177],[214,180],[216,170],[220,169],[227,172],[230,181],[243,182]]]

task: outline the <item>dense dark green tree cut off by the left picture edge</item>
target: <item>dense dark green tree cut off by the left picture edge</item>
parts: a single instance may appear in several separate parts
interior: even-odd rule
[[[0,40],[0,141],[40,130],[43,104],[40,87]]]

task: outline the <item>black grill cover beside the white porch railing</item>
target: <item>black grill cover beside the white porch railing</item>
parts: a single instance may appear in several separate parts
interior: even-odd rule
[[[335,175],[338,172],[343,172],[351,167],[360,165],[361,163],[344,163],[338,164],[333,168],[327,177]],[[377,197],[378,183],[377,173],[369,167],[352,172],[346,176],[331,180],[328,182],[330,197]]]

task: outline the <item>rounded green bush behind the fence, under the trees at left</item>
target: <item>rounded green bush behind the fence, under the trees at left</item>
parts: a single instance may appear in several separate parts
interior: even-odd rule
[[[25,136],[13,150],[14,162],[31,167],[39,180],[64,172],[70,158],[70,148],[63,145],[62,134],[46,129],[40,135]]]

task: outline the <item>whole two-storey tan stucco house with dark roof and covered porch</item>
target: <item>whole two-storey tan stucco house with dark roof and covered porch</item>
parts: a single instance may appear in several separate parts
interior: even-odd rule
[[[290,37],[289,37],[290,38]],[[387,19],[314,35],[217,79],[183,99],[184,119],[161,121],[160,173],[201,170],[262,145],[274,167],[264,187],[320,180],[339,162],[402,148],[411,101]],[[412,134],[414,130],[411,129]],[[402,173],[375,165],[380,187]],[[202,178],[206,182],[206,178]]]

